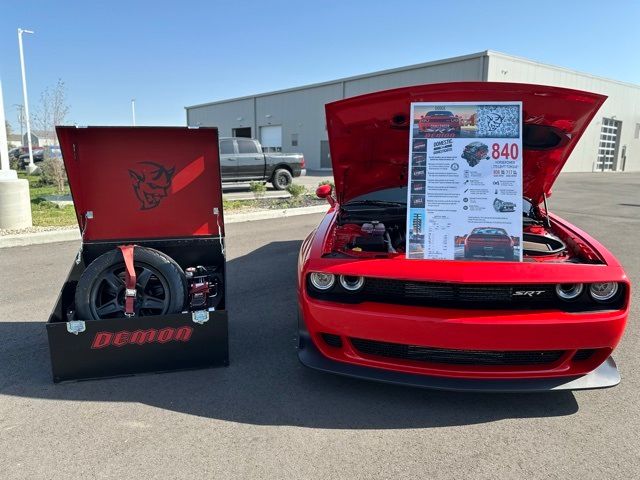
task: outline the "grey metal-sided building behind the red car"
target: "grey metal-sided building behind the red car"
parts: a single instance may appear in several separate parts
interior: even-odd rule
[[[326,103],[378,90],[453,81],[537,83],[605,94],[608,100],[565,171],[640,170],[639,85],[493,51],[193,105],[186,107],[187,125],[217,126],[221,136],[264,139],[271,150],[302,152],[309,169],[330,168]],[[278,127],[279,144],[274,140]]]

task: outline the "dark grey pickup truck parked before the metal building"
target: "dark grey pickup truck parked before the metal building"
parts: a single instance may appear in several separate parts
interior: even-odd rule
[[[284,190],[306,170],[301,153],[264,153],[257,140],[221,138],[220,173],[223,182],[262,180]]]

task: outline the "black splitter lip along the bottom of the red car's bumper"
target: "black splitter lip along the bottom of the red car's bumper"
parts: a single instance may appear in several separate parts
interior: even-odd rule
[[[620,373],[612,357],[608,357],[598,368],[586,375],[534,379],[449,378],[365,367],[325,357],[311,341],[309,333],[304,328],[299,331],[298,358],[304,366],[323,372],[435,390],[542,392],[608,388],[620,383]]]

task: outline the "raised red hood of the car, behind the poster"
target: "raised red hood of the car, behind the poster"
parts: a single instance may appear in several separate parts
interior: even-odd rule
[[[327,129],[338,201],[407,184],[412,102],[522,101],[523,195],[538,204],[606,98],[543,85],[459,82],[329,103]]]

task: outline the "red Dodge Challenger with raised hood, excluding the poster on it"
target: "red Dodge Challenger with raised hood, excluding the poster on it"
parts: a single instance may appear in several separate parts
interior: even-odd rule
[[[629,280],[597,240],[546,208],[604,96],[509,83],[413,86],[330,103],[331,207],[302,243],[299,358],[318,370],[454,390],[599,388]],[[411,102],[522,101],[523,262],[405,256]]]

